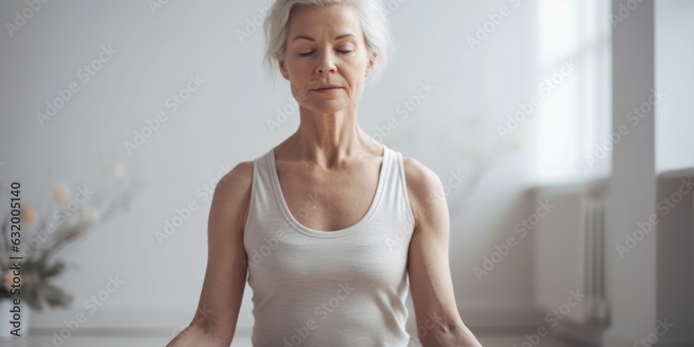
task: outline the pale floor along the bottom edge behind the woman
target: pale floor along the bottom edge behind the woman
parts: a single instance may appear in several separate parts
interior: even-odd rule
[[[153,346],[166,346],[171,340],[170,337],[80,337],[74,336],[69,337],[64,344],[53,345],[51,339],[53,337],[49,336],[30,336],[21,339],[15,339],[9,342],[0,341],[0,347],[153,347]],[[484,347],[520,347],[523,342],[527,341],[525,337],[479,337],[482,346]],[[44,345],[44,343],[46,343]],[[527,345],[527,344],[526,344]],[[421,346],[418,343],[412,344],[414,346]],[[552,339],[550,337],[543,337],[539,344],[533,345],[534,347],[573,347],[568,344],[562,344],[561,342]],[[251,347],[251,339],[249,338],[239,338],[235,339],[231,347]]]

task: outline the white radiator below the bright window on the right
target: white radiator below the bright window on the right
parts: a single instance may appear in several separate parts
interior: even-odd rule
[[[534,305],[562,321],[584,325],[609,319],[605,289],[605,201],[607,181],[534,189],[534,201],[555,205],[532,231]],[[585,297],[577,305],[571,293]],[[569,308],[568,313],[566,308]]]

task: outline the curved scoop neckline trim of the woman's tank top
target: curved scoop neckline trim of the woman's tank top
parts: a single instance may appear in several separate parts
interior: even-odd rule
[[[386,171],[389,167],[388,165],[388,160],[390,158],[390,149],[385,145],[382,144],[383,146],[383,161],[381,162],[381,167],[380,167],[380,172],[378,174],[378,184],[376,185],[376,192],[375,195],[373,196],[373,200],[371,201],[371,205],[369,206],[369,210],[366,211],[366,214],[364,214],[364,217],[357,221],[357,223],[353,224],[352,226],[349,226],[348,228],[340,229],[340,230],[335,230],[335,231],[322,231],[322,230],[314,230],[312,228],[308,228],[307,226],[304,226],[303,224],[299,223],[294,216],[291,214],[289,211],[289,206],[287,205],[287,201],[285,201],[285,194],[282,193],[282,187],[280,187],[280,178],[277,173],[277,167],[275,163],[275,148],[270,150],[270,155],[269,155],[269,160],[270,160],[270,168],[271,168],[271,176],[272,176],[272,183],[274,186],[275,190],[275,195],[277,198],[278,203],[280,204],[280,210],[282,210],[282,214],[284,214],[285,219],[289,224],[299,232],[302,232],[305,235],[310,235],[314,237],[324,237],[324,238],[332,238],[332,237],[341,237],[345,235],[349,235],[357,230],[359,228],[362,228],[364,224],[366,224],[369,219],[371,219],[371,216],[373,215],[373,212],[378,208],[378,203],[380,201],[381,197],[381,192],[383,190],[384,186],[384,181],[386,177]]]

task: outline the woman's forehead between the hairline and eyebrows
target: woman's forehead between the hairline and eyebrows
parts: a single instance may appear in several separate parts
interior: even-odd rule
[[[352,6],[332,5],[328,8],[300,8],[291,15],[290,41],[299,35],[320,33],[335,35],[351,33],[358,37],[362,33],[362,26],[357,10]]]

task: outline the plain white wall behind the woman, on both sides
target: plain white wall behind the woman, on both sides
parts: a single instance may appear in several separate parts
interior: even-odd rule
[[[296,130],[296,114],[274,132],[266,125],[289,104],[286,81],[273,89],[262,69],[262,31],[245,42],[235,32],[269,1],[244,3],[169,1],[151,12],[146,1],[50,1],[22,28],[0,35],[0,169],[3,184],[21,179],[26,201],[50,213],[51,189],[59,182],[105,193],[100,160],[119,158],[125,174],[139,164],[147,185],[133,210],[117,215],[63,255],[78,264],[58,285],[75,296],[69,311],[33,315],[35,328],[56,328],[85,312],[82,303],[104,289],[108,276],[125,285],[84,326],[173,330],[192,318],[207,255],[210,199],[196,195],[219,172],[252,160]],[[502,6],[510,15],[475,49],[465,37]],[[22,1],[0,3],[0,20],[13,21]],[[477,310],[525,310],[532,300],[532,241],[519,242],[481,281],[473,266],[513,235],[534,210],[522,192],[533,180],[532,119],[500,142],[497,126],[537,93],[547,78],[537,62],[537,2],[404,1],[391,17],[397,56],[383,81],[369,85],[360,101],[359,124],[367,133],[414,96],[422,82],[437,90],[385,142],[417,158],[446,183],[450,171],[479,182],[453,189],[450,262],[463,319]],[[413,25],[416,24],[416,25]],[[78,77],[101,46],[117,53],[88,83]],[[546,67],[543,67],[546,69]],[[173,113],[167,97],[185,87],[190,74],[205,83]],[[80,90],[41,126],[35,113],[75,82]],[[132,155],[124,142],[146,119],[165,111],[169,119]],[[497,151],[500,149],[500,151]],[[222,167],[222,168],[220,168]],[[176,209],[200,208],[163,246],[155,238]],[[48,211],[48,212],[46,212]],[[252,324],[246,288],[239,328]],[[412,312],[411,312],[412,313]]]

